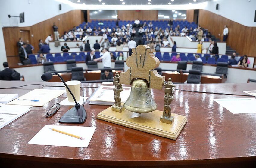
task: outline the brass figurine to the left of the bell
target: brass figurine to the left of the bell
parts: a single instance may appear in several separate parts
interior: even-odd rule
[[[116,72],[116,76],[113,77],[114,79],[113,84],[115,85],[115,88],[113,89],[115,104],[112,106],[112,110],[117,112],[122,112],[124,110],[124,107],[121,106],[120,93],[121,91],[123,91],[123,87],[122,87],[122,84],[120,84],[119,82],[119,78],[120,78],[119,73]]]

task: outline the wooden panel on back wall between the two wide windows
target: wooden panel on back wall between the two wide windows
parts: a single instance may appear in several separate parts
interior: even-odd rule
[[[158,20],[158,10],[118,10],[120,20]]]

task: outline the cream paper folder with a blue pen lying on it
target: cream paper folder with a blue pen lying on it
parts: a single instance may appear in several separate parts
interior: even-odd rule
[[[30,105],[30,106],[44,106],[46,103],[54,98],[59,97],[65,90],[50,90],[50,89],[34,89],[27,94],[20,96],[19,99],[15,99],[8,104],[16,105]],[[39,101],[29,101],[39,100]]]

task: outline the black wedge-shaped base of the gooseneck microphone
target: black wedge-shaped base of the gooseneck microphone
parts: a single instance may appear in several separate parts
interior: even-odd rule
[[[84,123],[87,118],[86,111],[83,106],[78,109],[72,107],[59,120],[60,123]]]

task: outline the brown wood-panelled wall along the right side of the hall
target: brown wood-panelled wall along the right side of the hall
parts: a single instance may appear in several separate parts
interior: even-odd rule
[[[246,19],[246,18],[245,18]],[[223,39],[224,25],[229,28],[227,45],[240,55],[256,57],[256,27],[247,27],[208,10],[199,10],[198,24],[207,28],[217,38]],[[220,36],[219,36],[220,34]]]

